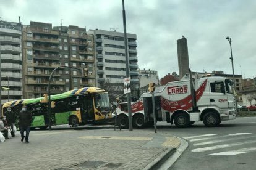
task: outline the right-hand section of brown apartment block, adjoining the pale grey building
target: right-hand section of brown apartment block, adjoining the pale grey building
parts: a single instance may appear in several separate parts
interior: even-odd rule
[[[59,31],[59,64],[72,67],[63,70],[64,90],[96,86],[93,35],[73,25],[56,26],[53,30]]]

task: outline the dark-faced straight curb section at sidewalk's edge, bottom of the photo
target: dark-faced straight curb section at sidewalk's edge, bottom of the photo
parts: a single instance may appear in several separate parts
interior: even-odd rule
[[[148,164],[142,170],[155,170],[158,169],[161,164],[163,164],[169,156],[173,155],[177,148],[168,148],[168,150],[164,151],[160,156],[158,156],[154,161]]]

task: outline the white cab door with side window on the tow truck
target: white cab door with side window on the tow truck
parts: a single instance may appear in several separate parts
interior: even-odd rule
[[[210,103],[218,108],[228,108],[228,95],[223,81],[210,81]]]

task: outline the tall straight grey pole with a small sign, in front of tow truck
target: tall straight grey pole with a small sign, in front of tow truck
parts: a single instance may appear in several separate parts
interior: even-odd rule
[[[127,35],[126,35],[126,11],[124,10],[124,0],[122,0],[122,21],[124,24],[124,47],[126,52],[126,78],[130,77],[130,68],[129,68],[129,56],[127,49]],[[129,121],[129,131],[132,131],[132,109],[131,109],[131,99],[130,93],[127,93],[127,105],[128,105],[128,121]]]

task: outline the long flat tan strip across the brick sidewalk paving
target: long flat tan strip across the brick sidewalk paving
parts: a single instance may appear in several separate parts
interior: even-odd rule
[[[153,137],[131,137],[131,136],[81,136],[80,139],[113,139],[113,140],[152,140]]]

